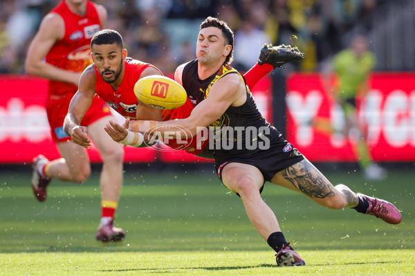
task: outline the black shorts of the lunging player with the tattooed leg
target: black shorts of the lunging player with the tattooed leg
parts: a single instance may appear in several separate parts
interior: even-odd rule
[[[215,158],[214,166],[219,179],[222,181],[222,170],[226,165],[237,162],[255,166],[262,173],[265,181],[271,181],[277,172],[304,159],[304,156],[296,148],[293,148],[292,144],[282,138],[280,141],[274,142],[272,148],[262,153],[250,158],[231,157],[227,160]]]

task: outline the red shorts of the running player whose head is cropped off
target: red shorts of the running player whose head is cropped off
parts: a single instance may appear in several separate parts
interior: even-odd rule
[[[69,103],[72,97],[73,94],[62,96],[49,95],[48,99],[46,99],[46,114],[48,115],[50,132],[53,141],[56,143],[71,140],[71,137],[68,137],[64,132],[64,119],[66,114],[68,114]],[[89,126],[93,122],[98,121],[98,119],[109,115],[111,115],[111,111],[107,103],[95,95],[91,107],[82,119],[81,126]]]

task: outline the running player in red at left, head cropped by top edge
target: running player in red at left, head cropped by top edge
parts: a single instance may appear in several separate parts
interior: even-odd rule
[[[71,141],[63,130],[69,103],[77,91],[82,72],[91,64],[91,38],[107,21],[107,10],[86,0],[65,0],[50,11],[28,49],[26,72],[48,79],[46,112],[53,141],[62,158],[49,161],[43,155],[33,159],[32,188],[44,201],[50,180],[83,183],[91,174],[86,150]],[[91,136],[103,160],[100,177],[102,216],[96,239],[120,241],[124,231],[113,226],[122,187],[122,147],[104,132],[114,119],[107,103],[95,97],[89,112],[81,118],[82,128]]]

